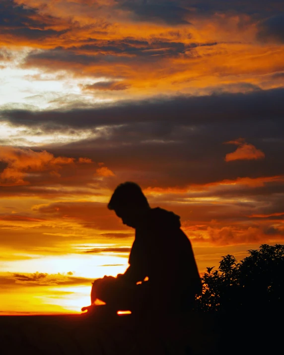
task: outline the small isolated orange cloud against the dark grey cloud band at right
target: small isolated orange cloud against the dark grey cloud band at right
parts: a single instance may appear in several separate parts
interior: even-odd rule
[[[236,141],[226,142],[225,144],[238,145],[234,152],[226,154],[225,161],[258,160],[265,158],[265,154],[262,150],[257,149],[253,144],[246,143],[243,138],[239,138]]]

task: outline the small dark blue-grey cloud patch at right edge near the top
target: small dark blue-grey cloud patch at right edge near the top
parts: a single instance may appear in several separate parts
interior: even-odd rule
[[[258,24],[258,40],[284,43],[284,14],[269,17]]]

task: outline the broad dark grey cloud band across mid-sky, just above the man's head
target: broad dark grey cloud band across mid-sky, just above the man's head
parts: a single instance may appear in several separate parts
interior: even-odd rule
[[[283,175],[283,95],[284,89],[273,89],[122,102],[89,110],[5,111],[2,120],[15,126],[40,123],[46,131],[100,128],[96,138],[54,144],[48,150],[75,158],[83,153],[105,162],[116,174],[113,184],[131,178],[144,187],[184,186]],[[263,151],[265,159],[225,162],[235,147],[223,143],[240,137]]]

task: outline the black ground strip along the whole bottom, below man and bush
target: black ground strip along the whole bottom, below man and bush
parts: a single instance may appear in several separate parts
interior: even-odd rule
[[[1,316],[0,355],[282,354],[281,314]]]

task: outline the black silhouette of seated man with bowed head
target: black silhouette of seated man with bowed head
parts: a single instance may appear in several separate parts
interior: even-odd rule
[[[126,272],[96,280],[91,303],[100,299],[114,310],[132,312],[191,309],[202,285],[191,242],[180,229],[180,217],[161,208],[151,209],[140,186],[133,182],[115,189],[108,209],[135,228],[135,241]]]

